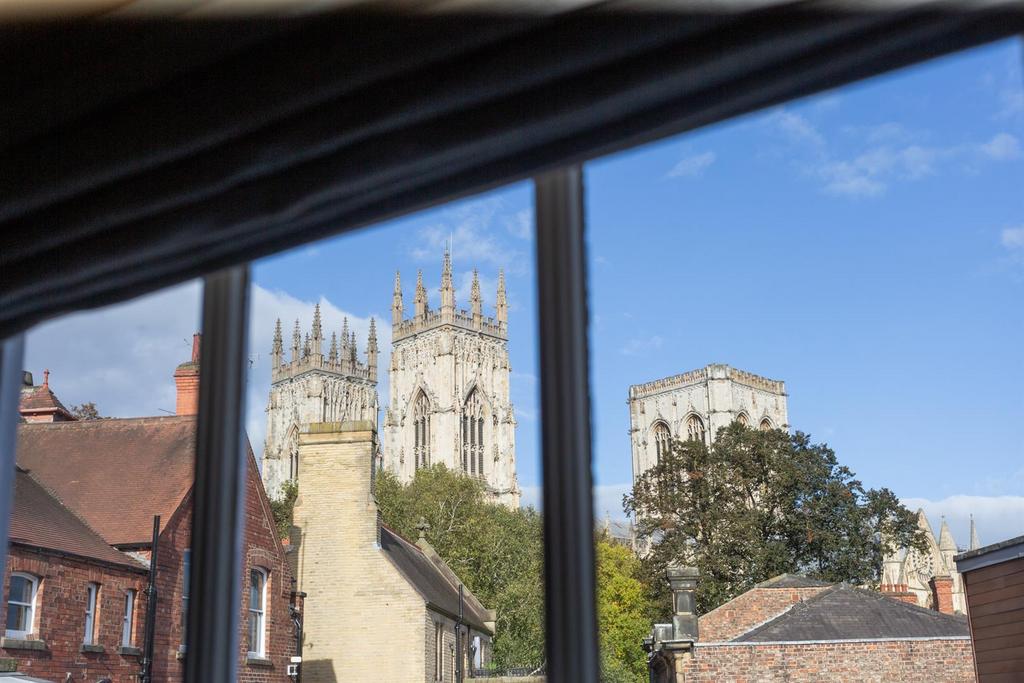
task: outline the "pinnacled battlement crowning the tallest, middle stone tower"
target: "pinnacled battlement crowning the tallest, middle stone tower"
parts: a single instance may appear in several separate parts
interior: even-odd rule
[[[480,297],[480,281],[473,269],[473,286],[470,290],[470,308],[456,308],[455,286],[452,282],[452,255],[444,251],[441,266],[441,305],[430,310],[427,303],[427,289],[423,286],[423,271],[416,278],[416,296],[413,299],[414,313],[404,317],[404,302],[401,295],[401,273],[394,273],[394,294],[391,301],[391,339],[395,342],[418,335],[428,330],[444,326],[469,332],[478,332],[503,341],[508,341],[508,298],[505,293],[505,272],[498,272],[498,293],[495,298],[495,315],[483,315]]]

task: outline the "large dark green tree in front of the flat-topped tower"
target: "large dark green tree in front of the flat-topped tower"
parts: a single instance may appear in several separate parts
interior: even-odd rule
[[[738,423],[710,449],[674,441],[624,505],[651,541],[641,571],[666,611],[673,560],[699,569],[708,611],[783,572],[876,585],[886,552],[925,544],[914,514],[891,490],[865,489],[826,444]]]

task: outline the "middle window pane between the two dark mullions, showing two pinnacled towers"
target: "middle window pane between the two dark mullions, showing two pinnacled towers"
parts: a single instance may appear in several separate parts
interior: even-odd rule
[[[305,654],[325,659],[305,674],[544,671],[531,195],[519,184],[253,266],[247,426],[307,596]],[[355,552],[367,546],[410,579],[346,591],[380,575]],[[432,651],[399,669],[379,656],[388,611],[431,577],[447,607],[416,607]]]

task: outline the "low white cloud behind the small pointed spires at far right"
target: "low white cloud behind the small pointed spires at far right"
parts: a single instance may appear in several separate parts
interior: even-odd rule
[[[1024,535],[1024,496],[950,496],[939,501],[906,498],[902,503],[911,510],[923,508],[936,532],[944,516],[962,548],[971,540],[971,515],[983,546]]]

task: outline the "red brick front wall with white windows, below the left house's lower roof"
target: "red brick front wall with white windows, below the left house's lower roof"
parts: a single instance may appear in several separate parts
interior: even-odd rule
[[[141,647],[145,623],[142,589],[145,588],[148,572],[141,566],[139,569],[132,571],[11,545],[3,580],[2,604],[7,604],[12,571],[30,573],[39,579],[30,638],[41,641],[45,649],[5,647],[0,648],[0,656],[13,659],[22,673],[48,680],[63,681],[66,675],[71,674],[76,681],[110,678],[114,683],[133,683],[139,673],[140,657],[121,653],[121,629],[125,591],[134,589],[137,597],[133,644]],[[100,586],[93,642],[102,646],[101,652],[81,651],[89,583]],[[7,639],[4,641],[9,642]]]

